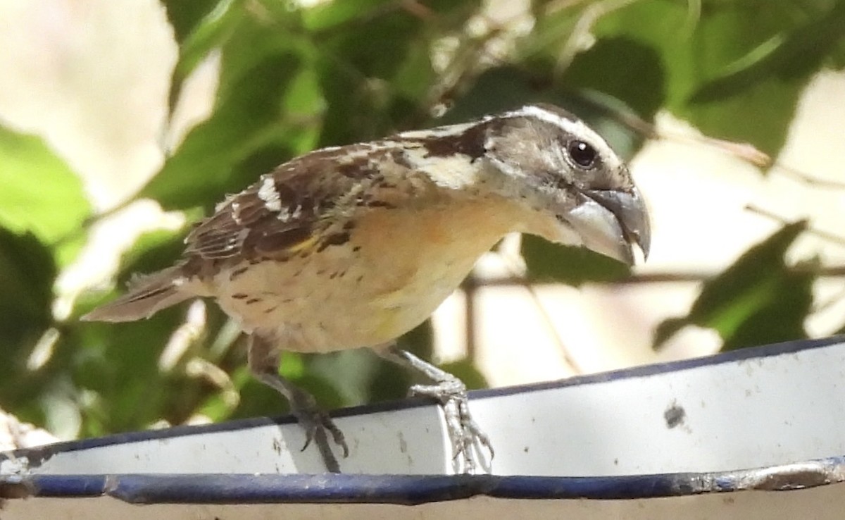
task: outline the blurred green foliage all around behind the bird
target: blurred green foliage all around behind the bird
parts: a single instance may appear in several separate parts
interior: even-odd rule
[[[845,2],[835,0],[536,1],[533,25],[515,36],[496,25],[477,30],[480,0],[164,4],[180,47],[172,108],[194,68],[210,53],[221,55],[210,118],[169,151],[139,193],[187,211],[191,220],[316,147],[527,101],[580,114],[629,158],[648,137],[641,133],[647,124],[630,122],[651,123],[658,110],[774,155],[810,77],[845,67]],[[435,123],[438,107],[450,110]],[[77,320],[115,289],[83,295],[67,320],[56,320],[57,273],[97,216],[74,173],[34,136],[0,129],[0,184],[3,408],[80,435],[161,419],[181,424],[197,413],[222,420],[282,412],[275,392],[249,376],[243,338],[213,304],[187,352],[170,361],[166,345],[183,325],[184,306],[137,323]],[[706,282],[690,315],[659,328],[656,345],[690,323],[717,330],[725,348],[804,337],[814,277],[811,270],[796,274],[783,260],[803,231],[801,223],[783,227]],[[142,238],[125,256],[119,281],[170,264],[182,238],[166,232]],[[522,252],[532,280],[578,285],[629,273],[613,260],[534,238]],[[430,356],[430,325],[401,341]],[[485,384],[468,361],[449,368],[470,386]],[[326,407],[401,397],[411,382],[367,352],[286,353],[281,371]]]

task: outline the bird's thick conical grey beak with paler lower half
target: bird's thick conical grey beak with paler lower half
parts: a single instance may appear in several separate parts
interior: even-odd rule
[[[648,257],[651,247],[646,204],[636,188],[582,189],[581,205],[567,215],[566,221],[581,237],[584,247],[628,265],[634,264],[633,245]]]

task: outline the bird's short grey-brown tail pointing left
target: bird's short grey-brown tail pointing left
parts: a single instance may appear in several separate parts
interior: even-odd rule
[[[151,275],[137,276],[129,291],[109,304],[82,316],[85,321],[134,321],[196,296],[185,290],[188,279],[182,266],[168,267]]]

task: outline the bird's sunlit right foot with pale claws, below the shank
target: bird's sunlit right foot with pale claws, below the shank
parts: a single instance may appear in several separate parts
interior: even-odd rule
[[[446,429],[452,445],[452,462],[456,473],[477,473],[493,460],[490,438],[478,426],[469,408],[466,385],[454,375],[443,373],[435,385],[414,385],[411,394],[436,399],[443,408]],[[488,452],[485,462],[479,456]]]

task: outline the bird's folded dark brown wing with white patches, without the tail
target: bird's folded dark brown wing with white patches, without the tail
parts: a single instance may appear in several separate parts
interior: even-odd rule
[[[398,143],[380,141],[314,151],[286,162],[218,205],[188,234],[185,255],[249,259],[284,256],[309,241],[317,249],[318,243],[341,244],[351,209],[384,207],[379,189],[395,192],[394,183],[384,178],[385,167],[411,172],[398,161],[400,155]],[[272,183],[272,204],[265,183]]]

